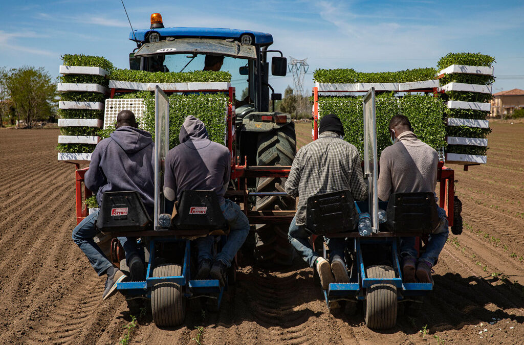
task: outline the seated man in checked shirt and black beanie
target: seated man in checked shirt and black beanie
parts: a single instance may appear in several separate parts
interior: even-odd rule
[[[298,196],[297,213],[289,226],[288,240],[302,259],[319,273],[322,288],[330,283],[348,283],[344,263],[344,238],[325,238],[331,250],[331,267],[308,241],[311,233],[304,229],[308,198],[317,194],[349,190],[354,199],[367,198],[367,184],[361,168],[358,150],[343,140],[344,127],[340,119],[325,115],[320,120],[319,138],[303,146],[293,160],[285,188],[289,195]]]

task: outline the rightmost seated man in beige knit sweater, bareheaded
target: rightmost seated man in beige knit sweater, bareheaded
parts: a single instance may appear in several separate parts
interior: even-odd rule
[[[395,115],[389,121],[393,144],[380,155],[378,197],[387,201],[392,193],[433,192],[436,187],[439,155],[420,141],[411,129],[409,119]],[[407,283],[433,283],[431,271],[444,248],[449,231],[446,212],[438,207],[440,224],[429,236],[426,251],[417,260],[414,237],[400,238],[402,273]]]

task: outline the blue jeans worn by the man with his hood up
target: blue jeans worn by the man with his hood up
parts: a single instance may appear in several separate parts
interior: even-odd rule
[[[224,218],[230,225],[230,233],[227,236],[226,244],[222,251],[216,255],[215,260],[220,260],[226,267],[230,267],[236,252],[242,247],[249,233],[249,220],[240,209],[240,206],[231,200],[225,199],[225,203],[220,205],[220,208]],[[198,248],[198,262],[201,262],[203,259],[213,261],[214,240],[215,236],[200,237],[195,240],[196,248]]]

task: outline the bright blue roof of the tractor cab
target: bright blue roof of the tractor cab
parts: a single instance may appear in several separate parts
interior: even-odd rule
[[[273,43],[273,36],[266,32],[224,29],[224,28],[156,28],[147,30],[134,30],[129,32],[129,39],[137,42],[145,42],[150,31],[158,32],[162,37],[188,38],[188,37],[205,37],[205,38],[234,38],[239,39],[243,34],[251,34],[255,37],[255,44],[258,46],[269,46]],[[136,39],[135,39],[136,36]]]

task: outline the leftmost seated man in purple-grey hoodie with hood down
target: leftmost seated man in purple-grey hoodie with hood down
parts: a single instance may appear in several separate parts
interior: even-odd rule
[[[135,114],[122,110],[116,118],[116,130],[110,138],[100,141],[92,155],[84,183],[96,194],[102,205],[104,192],[137,191],[148,213],[154,208],[153,142],[151,135],[137,128]],[[98,212],[85,217],[73,230],[73,241],[88,257],[98,275],[107,274],[103,299],[116,292],[116,284],[127,280],[94,242]],[[140,258],[136,239],[119,237],[126,252],[126,261],[133,280],[144,280],[144,262]]]

